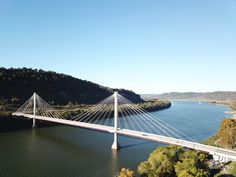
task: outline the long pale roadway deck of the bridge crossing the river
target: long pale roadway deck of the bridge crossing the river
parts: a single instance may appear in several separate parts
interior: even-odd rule
[[[12,115],[27,117],[30,119],[49,121],[49,122],[70,125],[70,126],[75,126],[75,127],[81,127],[81,128],[86,128],[86,129],[93,129],[93,130],[109,132],[109,133],[115,132],[114,127],[104,126],[104,125],[90,124],[90,123],[84,123],[84,122],[78,122],[78,121],[72,121],[72,120],[66,120],[66,119],[50,118],[50,117],[44,117],[44,116],[34,116],[34,115],[22,114],[22,113],[13,113]],[[186,140],[181,140],[177,138],[171,138],[171,137],[156,135],[156,134],[151,134],[151,133],[145,133],[145,132],[140,132],[140,131],[135,131],[135,130],[118,129],[116,130],[116,133],[120,135],[124,135],[124,136],[140,138],[140,139],[144,139],[148,141],[184,146],[190,149],[207,152],[211,155],[223,156],[231,161],[236,161],[236,151],[232,151],[228,149],[208,146],[208,145],[204,145],[204,144],[200,144],[196,142],[191,142],[191,141],[186,141]]]

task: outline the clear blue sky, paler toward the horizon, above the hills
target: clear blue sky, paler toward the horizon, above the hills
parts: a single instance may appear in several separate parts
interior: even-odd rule
[[[0,0],[0,66],[137,93],[236,90],[236,0]]]

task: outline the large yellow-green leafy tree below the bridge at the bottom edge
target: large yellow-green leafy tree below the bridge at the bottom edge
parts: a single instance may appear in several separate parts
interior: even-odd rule
[[[138,166],[145,177],[208,177],[207,155],[183,147],[161,147]]]

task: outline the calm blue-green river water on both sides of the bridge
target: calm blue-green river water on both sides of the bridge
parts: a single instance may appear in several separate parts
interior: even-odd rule
[[[228,107],[198,102],[172,103],[153,112],[196,141],[218,130]],[[68,126],[0,134],[0,177],[112,177],[122,167],[138,164],[161,144],[119,137],[122,148],[111,150],[113,135]]]

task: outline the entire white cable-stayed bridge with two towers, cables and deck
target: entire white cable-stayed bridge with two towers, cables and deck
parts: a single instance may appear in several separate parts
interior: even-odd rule
[[[219,162],[236,161],[236,151],[200,144],[118,92],[72,118],[64,118],[34,93],[13,115],[32,119],[33,127],[36,120],[42,120],[112,133],[112,149],[120,148],[118,135],[123,135],[203,151]]]

